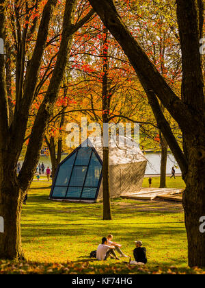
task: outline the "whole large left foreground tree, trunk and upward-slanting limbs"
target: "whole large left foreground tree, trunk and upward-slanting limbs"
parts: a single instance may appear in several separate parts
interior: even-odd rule
[[[6,8],[4,2],[0,0],[0,38],[3,39],[5,39]],[[5,220],[4,233],[0,233],[0,258],[23,258],[20,241],[20,211],[25,192],[23,193],[22,191],[27,191],[36,171],[44,133],[49,124],[49,119],[53,115],[61,80],[70,55],[73,35],[94,14],[93,11],[90,11],[81,21],[74,25],[77,0],[66,1],[61,44],[53,76],[34,121],[25,161],[17,178],[16,165],[25,141],[29,111],[34,100],[33,95],[38,82],[40,63],[49,33],[49,23],[56,3],[56,0],[49,0],[44,6],[36,47],[33,51],[31,62],[27,67],[23,99],[18,99],[20,100],[18,101],[19,107],[15,106],[14,120],[10,125],[5,82],[5,60],[4,56],[0,55],[0,216]],[[18,98],[18,95],[16,97]]]

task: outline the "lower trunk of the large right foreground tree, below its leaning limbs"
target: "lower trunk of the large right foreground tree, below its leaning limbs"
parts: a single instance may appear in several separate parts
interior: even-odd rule
[[[183,193],[189,266],[205,267],[205,233],[200,232],[200,218],[205,216],[205,132],[201,131],[197,139],[184,136],[184,149],[189,153],[189,172]]]

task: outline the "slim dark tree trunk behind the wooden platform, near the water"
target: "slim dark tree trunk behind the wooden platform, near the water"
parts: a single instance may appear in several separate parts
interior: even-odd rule
[[[160,132],[160,140],[161,140],[161,172],[160,172],[160,187],[165,188],[166,185],[166,176],[167,176],[167,152],[168,152],[168,145],[165,137]]]

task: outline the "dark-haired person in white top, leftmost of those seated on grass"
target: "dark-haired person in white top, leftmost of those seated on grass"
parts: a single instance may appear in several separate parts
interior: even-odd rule
[[[102,238],[102,244],[98,245],[98,249],[97,249],[97,253],[96,253],[96,259],[98,259],[100,261],[102,261],[102,260],[105,261],[112,254],[113,257],[111,256],[111,259],[115,258],[116,260],[119,260],[119,258],[115,254],[114,250],[115,250],[115,246],[109,245],[107,238],[103,237]]]

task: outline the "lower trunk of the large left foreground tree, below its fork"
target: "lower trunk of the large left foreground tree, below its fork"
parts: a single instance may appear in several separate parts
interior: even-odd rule
[[[6,177],[0,189],[0,215],[4,233],[0,233],[0,259],[24,259],[20,238],[21,191],[14,177]]]

